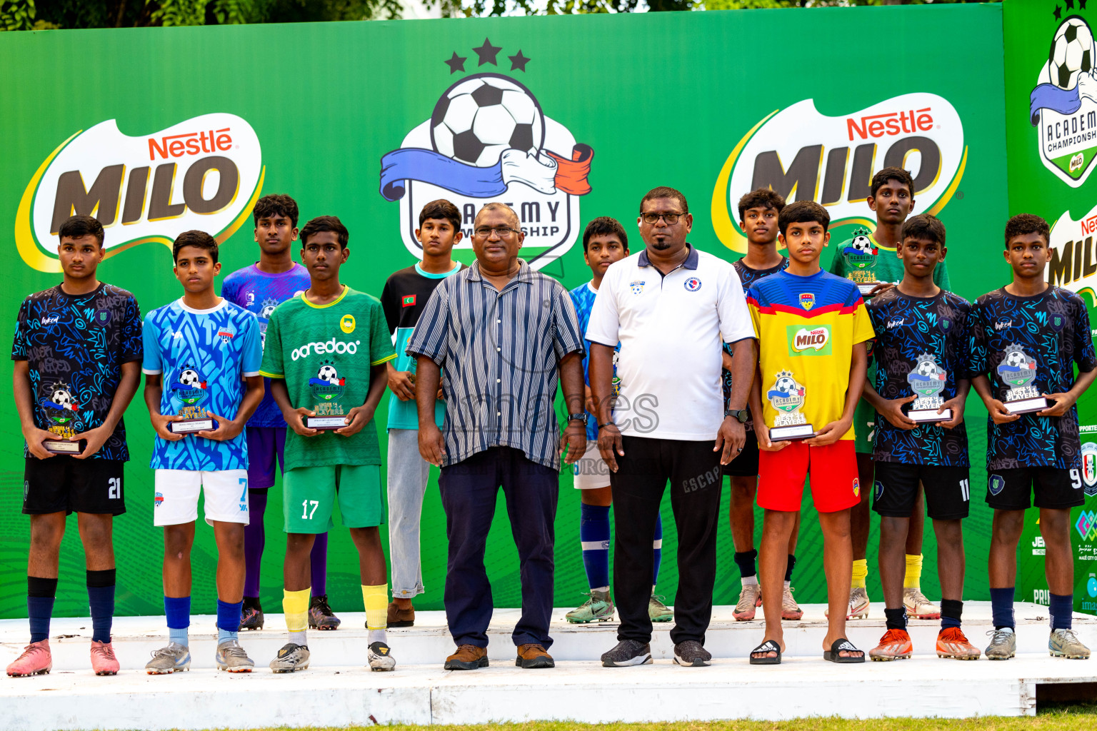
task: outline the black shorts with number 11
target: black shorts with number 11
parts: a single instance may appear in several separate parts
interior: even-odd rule
[[[935,521],[968,517],[971,481],[966,467],[936,467],[875,462],[872,510],[887,517],[908,517],[918,499],[918,482],[926,491],[926,514]]]

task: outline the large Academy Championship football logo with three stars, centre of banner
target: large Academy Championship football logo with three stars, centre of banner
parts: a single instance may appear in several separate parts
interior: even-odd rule
[[[499,66],[501,47],[485,38],[474,48],[476,67]],[[524,73],[530,59],[507,56],[510,72]],[[467,56],[445,61],[449,73],[465,71]],[[416,258],[415,238],[425,203],[449,198],[461,212],[465,233],[455,254],[472,262],[476,212],[493,201],[519,216],[525,241],[522,256],[541,269],[567,252],[581,231],[579,199],[590,193],[593,150],[576,141],[561,123],[542,112],[533,92],[514,76],[498,72],[460,78],[442,91],[430,118],[412,128],[399,149],[381,159],[381,195],[399,202],[400,237]],[[462,253],[463,252],[463,253]]]

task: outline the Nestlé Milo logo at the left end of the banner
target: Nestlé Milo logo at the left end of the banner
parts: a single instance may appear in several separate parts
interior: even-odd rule
[[[235,114],[203,114],[137,136],[123,134],[117,119],[100,122],[60,142],[31,175],[15,212],[15,244],[30,266],[60,272],[57,229],[77,214],[114,226],[106,256],[150,241],[170,248],[190,229],[223,243],[247,220],[263,173],[259,138]]]

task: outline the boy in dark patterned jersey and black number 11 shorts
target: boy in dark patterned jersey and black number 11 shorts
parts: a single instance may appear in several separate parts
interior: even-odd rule
[[[903,279],[866,305],[877,333],[875,382],[866,382],[864,400],[882,416],[875,429],[872,506],[880,514],[880,581],[887,621],[880,644],[869,652],[873,660],[905,660],[914,652],[906,631],[903,574],[919,482],[937,534],[943,597],[937,654],[958,660],[980,654],[960,629],[961,521],[968,517],[970,498],[963,409],[971,388],[971,304],[935,283],[946,252],[940,220],[928,215],[908,218],[898,248]]]

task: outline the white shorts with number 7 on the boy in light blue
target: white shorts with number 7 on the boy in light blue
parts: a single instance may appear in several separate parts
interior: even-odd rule
[[[152,525],[182,525],[199,519],[199,493],[203,488],[206,523],[248,524],[248,470],[158,469]]]

